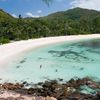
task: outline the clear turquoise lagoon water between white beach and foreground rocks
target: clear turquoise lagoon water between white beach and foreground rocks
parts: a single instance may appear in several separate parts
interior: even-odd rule
[[[37,48],[0,70],[0,78],[10,82],[68,81],[86,76],[100,81],[100,39]]]

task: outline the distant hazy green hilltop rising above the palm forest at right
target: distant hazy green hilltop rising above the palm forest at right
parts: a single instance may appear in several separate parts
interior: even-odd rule
[[[71,20],[80,20],[84,17],[95,18],[96,16],[100,17],[100,12],[95,10],[88,10],[82,8],[74,8],[67,11],[56,12],[46,16],[47,19],[71,19]]]

